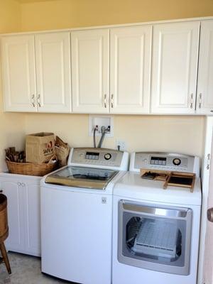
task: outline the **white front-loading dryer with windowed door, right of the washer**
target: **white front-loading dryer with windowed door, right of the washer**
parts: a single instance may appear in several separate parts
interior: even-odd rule
[[[140,168],[196,173],[194,192],[163,190]],[[199,158],[133,153],[130,172],[114,187],[113,284],[196,284],[200,236]]]

